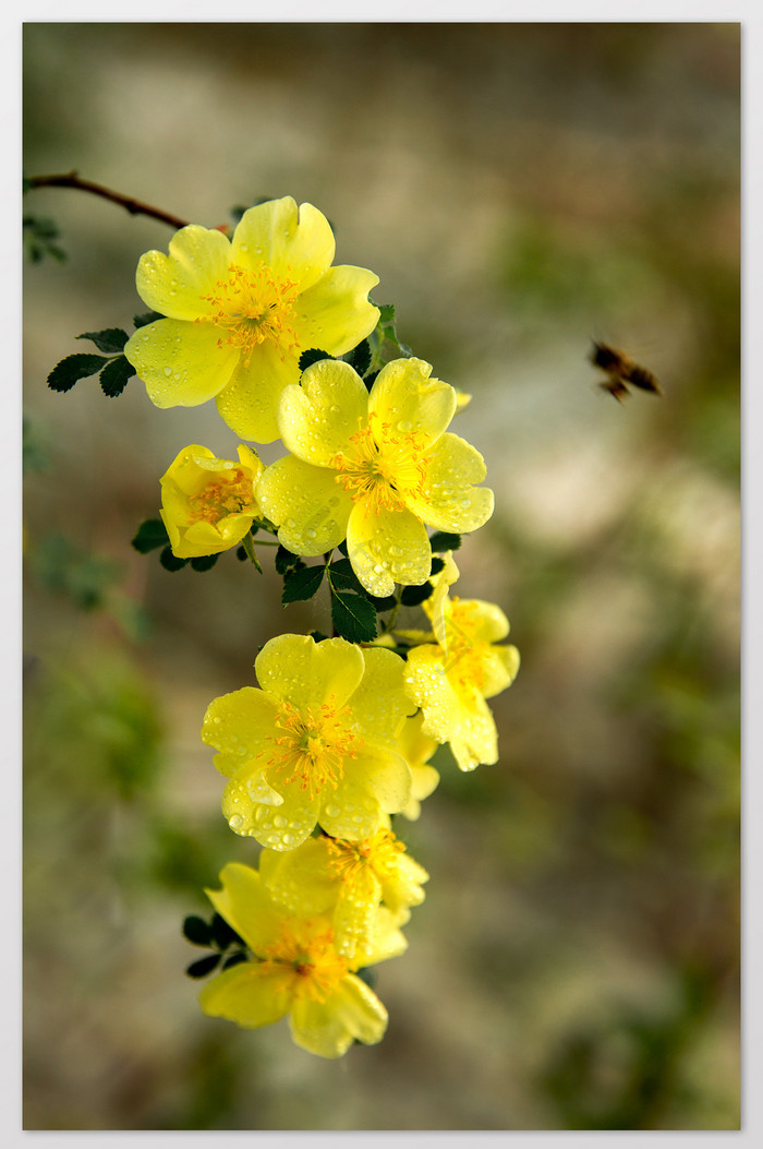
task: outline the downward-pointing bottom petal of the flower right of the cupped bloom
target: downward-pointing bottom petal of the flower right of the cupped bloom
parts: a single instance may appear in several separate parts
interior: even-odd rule
[[[350,512],[347,543],[352,570],[379,599],[392,594],[395,583],[419,586],[429,577],[429,537],[423,523],[408,510],[359,500]]]

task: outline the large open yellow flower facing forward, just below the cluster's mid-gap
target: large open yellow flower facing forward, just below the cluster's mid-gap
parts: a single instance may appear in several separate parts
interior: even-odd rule
[[[395,750],[413,710],[402,658],[281,634],[255,670],[260,688],[216,699],[202,728],[229,778],[223,813],[232,830],[275,850],[299,846],[317,823],[355,841],[407,804],[411,770]]]

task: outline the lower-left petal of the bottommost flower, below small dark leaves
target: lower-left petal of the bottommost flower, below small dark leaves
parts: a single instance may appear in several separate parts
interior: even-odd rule
[[[198,1001],[208,1017],[224,1017],[256,1030],[286,1017],[293,996],[294,987],[281,971],[267,972],[257,962],[242,962],[208,982]]]

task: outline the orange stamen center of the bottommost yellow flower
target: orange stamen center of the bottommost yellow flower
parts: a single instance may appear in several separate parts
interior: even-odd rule
[[[311,934],[310,921],[304,923],[307,928],[299,930],[299,925],[294,923],[291,928],[285,925],[281,936],[263,949],[259,970],[281,973],[283,988],[290,988],[295,997],[325,1002],[347,976],[348,965],[334,949],[330,928]]]

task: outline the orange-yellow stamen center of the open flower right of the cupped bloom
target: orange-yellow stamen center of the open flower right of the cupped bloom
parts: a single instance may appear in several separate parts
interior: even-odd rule
[[[371,411],[368,425],[350,435],[348,450],[334,455],[329,466],[353,501],[369,499],[376,514],[403,510],[410,495],[423,495],[426,449],[423,432],[404,424],[394,429]]]

